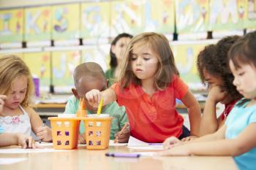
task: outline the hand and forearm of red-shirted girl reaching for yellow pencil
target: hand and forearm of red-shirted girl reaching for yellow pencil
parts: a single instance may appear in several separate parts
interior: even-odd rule
[[[91,106],[99,104],[100,98],[103,98],[103,106],[105,106],[116,101],[116,93],[112,88],[108,88],[102,92],[97,89],[93,89],[86,93],[86,99],[89,101]]]

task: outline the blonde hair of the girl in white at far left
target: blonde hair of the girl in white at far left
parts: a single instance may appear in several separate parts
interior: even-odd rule
[[[21,105],[29,105],[30,97],[34,93],[34,83],[28,66],[17,55],[4,55],[0,57],[0,94],[7,95],[12,82],[19,76],[28,77],[26,96]]]

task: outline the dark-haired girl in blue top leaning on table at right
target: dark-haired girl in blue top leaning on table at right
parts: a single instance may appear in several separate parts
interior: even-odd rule
[[[160,155],[231,155],[239,169],[255,169],[256,31],[239,39],[228,55],[233,84],[244,98],[237,102],[217,132],[192,142],[170,137]]]

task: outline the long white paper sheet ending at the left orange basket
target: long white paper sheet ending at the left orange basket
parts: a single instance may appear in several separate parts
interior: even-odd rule
[[[37,153],[37,152],[64,152],[71,150],[54,150],[48,148],[39,149],[22,149],[22,148],[10,148],[10,149],[0,149],[0,153]]]

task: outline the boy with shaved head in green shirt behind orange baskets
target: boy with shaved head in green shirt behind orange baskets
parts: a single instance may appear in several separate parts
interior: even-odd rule
[[[79,98],[86,98],[86,93],[89,90],[98,89],[102,91],[108,87],[105,74],[97,63],[81,63],[75,68],[73,78],[75,82],[75,88],[72,88],[72,93],[74,95],[71,96],[71,98],[69,98],[67,101],[64,114],[76,114],[79,108]],[[86,101],[86,111],[88,115],[97,113],[97,107],[98,106],[91,106],[89,102]],[[124,127],[124,124],[128,122],[125,108],[119,107],[115,101],[103,107],[102,114],[109,114],[111,117],[113,117],[110,128],[110,139],[115,139],[115,136],[117,136],[117,142],[128,142],[128,129],[122,131],[121,134],[118,133],[121,131],[121,128]],[[79,135],[79,142],[81,144],[86,143],[84,139],[84,132],[85,129],[83,121],[81,121]]]

